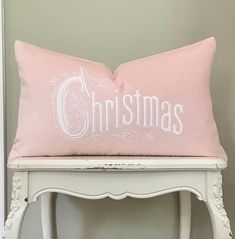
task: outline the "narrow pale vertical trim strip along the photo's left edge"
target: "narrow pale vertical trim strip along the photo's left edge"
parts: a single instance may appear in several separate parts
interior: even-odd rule
[[[4,1],[0,1],[0,235],[5,221],[5,135],[4,135]]]

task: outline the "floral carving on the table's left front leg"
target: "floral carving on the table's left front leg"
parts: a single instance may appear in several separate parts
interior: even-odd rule
[[[12,179],[12,194],[11,194],[11,205],[10,205],[10,213],[7,216],[7,220],[5,223],[5,228],[3,232],[3,239],[6,238],[6,233],[9,229],[11,229],[14,216],[16,212],[20,208],[20,189],[22,187],[22,183],[20,178],[17,176],[13,176]]]

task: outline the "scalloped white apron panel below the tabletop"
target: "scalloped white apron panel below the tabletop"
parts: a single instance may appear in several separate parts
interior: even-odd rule
[[[151,198],[176,191],[191,191],[198,198],[205,197],[206,172],[29,172],[29,203],[45,192],[59,192],[84,199],[110,197],[115,200],[127,196]]]

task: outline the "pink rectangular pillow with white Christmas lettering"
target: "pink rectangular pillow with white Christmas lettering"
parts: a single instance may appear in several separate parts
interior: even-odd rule
[[[121,64],[16,41],[21,79],[10,159],[59,155],[226,159],[212,112],[215,40]]]

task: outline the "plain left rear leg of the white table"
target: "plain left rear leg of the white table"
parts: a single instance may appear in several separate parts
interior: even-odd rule
[[[43,239],[53,239],[52,193],[41,195],[41,220]]]

